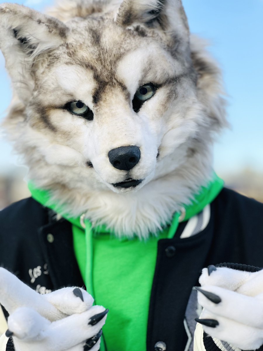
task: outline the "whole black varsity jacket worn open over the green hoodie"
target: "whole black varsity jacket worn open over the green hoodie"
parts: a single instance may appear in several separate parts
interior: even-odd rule
[[[263,267],[263,204],[224,188],[210,205],[205,229],[180,238],[186,225],[180,223],[174,238],[158,241],[147,351],[161,350],[158,345],[176,351],[191,347],[193,332],[184,322],[198,317],[188,300],[203,267],[223,262]],[[0,211],[0,252],[0,265],[40,293],[84,285],[71,224],[57,221],[32,198]]]

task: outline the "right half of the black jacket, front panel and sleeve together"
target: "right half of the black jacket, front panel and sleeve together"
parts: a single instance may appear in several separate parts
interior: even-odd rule
[[[176,240],[177,239],[177,240]],[[177,254],[169,261],[165,246]],[[200,245],[199,245],[200,244]],[[183,326],[191,287],[203,267],[221,262],[263,266],[263,204],[224,188],[211,203],[211,218],[200,233],[186,239],[159,240],[147,330],[147,351],[157,341],[184,350]],[[176,316],[176,318],[174,318]]]

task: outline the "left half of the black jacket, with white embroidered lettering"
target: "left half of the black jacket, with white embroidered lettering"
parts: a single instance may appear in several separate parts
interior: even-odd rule
[[[54,237],[52,244],[48,234]],[[50,210],[32,198],[0,211],[0,250],[0,265],[38,292],[84,286],[73,251],[71,224],[64,219],[56,221]]]

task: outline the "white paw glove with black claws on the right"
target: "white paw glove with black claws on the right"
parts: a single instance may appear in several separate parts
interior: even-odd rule
[[[204,331],[241,350],[263,344],[263,270],[245,272],[226,267],[204,268],[198,303]]]

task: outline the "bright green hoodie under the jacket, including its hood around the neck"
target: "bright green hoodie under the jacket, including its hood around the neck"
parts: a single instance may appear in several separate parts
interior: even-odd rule
[[[183,206],[188,220],[215,199],[223,180],[214,174],[207,187],[201,187],[191,203]],[[50,203],[48,191],[29,184],[32,197],[56,212],[59,206]],[[109,308],[103,336],[107,351],[138,351],[146,348],[146,331],[151,284],[155,270],[157,241],[172,238],[177,230],[180,213],[175,213],[169,227],[147,241],[118,239],[108,233],[106,226],[92,228],[85,220],[64,216],[72,223],[73,245],[87,291],[95,303]],[[103,273],[102,273],[103,272]],[[130,293],[132,292],[132,293]],[[101,351],[105,350],[102,340]]]

